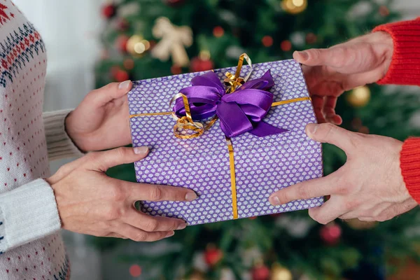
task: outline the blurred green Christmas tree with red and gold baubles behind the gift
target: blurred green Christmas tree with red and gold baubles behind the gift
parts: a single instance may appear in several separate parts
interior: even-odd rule
[[[114,1],[102,9],[108,24],[97,86],[235,66],[243,52],[253,62],[290,59],[294,50],[325,48],[398,20],[390,6],[367,0]],[[337,104],[342,126],[400,140],[416,134],[407,120],[418,98],[400,91],[368,85],[346,92]],[[346,156],[325,145],[323,159],[327,175]],[[109,174],[135,181],[132,165]],[[120,257],[136,262],[130,273],[143,273],[142,279],[384,279],[393,272],[391,257],[419,258],[409,235],[419,219],[411,211],[384,223],[318,225],[307,211],[297,211],[190,227],[163,241],[163,252]],[[106,249],[130,241],[95,242]]]

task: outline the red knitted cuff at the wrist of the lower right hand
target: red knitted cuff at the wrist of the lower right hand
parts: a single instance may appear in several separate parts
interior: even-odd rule
[[[409,194],[420,204],[420,138],[407,139],[402,144],[400,167]]]

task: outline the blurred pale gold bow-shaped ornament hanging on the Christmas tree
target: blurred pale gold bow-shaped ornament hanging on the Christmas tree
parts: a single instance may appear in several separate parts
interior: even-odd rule
[[[168,18],[158,18],[153,27],[153,36],[162,38],[153,48],[152,56],[162,61],[172,57],[172,62],[179,66],[188,66],[190,59],[186,47],[193,45],[193,30],[190,27],[177,27]]]

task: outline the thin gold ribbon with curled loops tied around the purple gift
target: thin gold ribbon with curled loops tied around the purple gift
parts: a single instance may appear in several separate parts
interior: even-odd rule
[[[241,69],[245,61],[249,64],[251,67],[251,71],[249,71],[248,75],[246,75],[245,78],[241,78]],[[228,90],[226,90],[227,93],[232,93],[237,90],[237,87],[241,86],[243,83],[245,83],[248,78],[251,76],[252,73],[252,62],[251,59],[246,55],[245,53],[242,54],[239,57],[239,62],[237,66],[237,71],[235,72],[235,75],[232,73],[227,72],[225,75],[227,78],[225,78],[225,83],[228,83],[230,87],[228,87]],[[176,102],[176,99],[182,98],[183,104],[186,109],[186,116],[179,118],[176,116],[172,109],[172,104]],[[280,102],[273,102],[272,107],[275,106],[281,106],[284,104],[290,104],[294,102],[302,102],[305,100],[311,100],[311,97],[299,97],[295,99],[289,99],[289,100],[283,100]],[[169,102],[169,111],[168,112],[162,112],[162,113],[141,113],[141,114],[135,114],[130,115],[130,118],[136,118],[136,117],[143,117],[143,116],[162,116],[162,115],[172,115],[172,118],[176,120],[176,124],[174,125],[174,136],[179,139],[192,139],[195,137],[200,137],[204,131],[209,130],[211,126],[216,123],[216,120],[218,119],[217,116],[214,116],[211,118],[207,123],[199,123],[195,122],[193,118],[191,117],[191,111],[190,111],[190,104],[188,104],[188,98],[186,95],[179,93],[176,94],[174,97],[172,97],[171,101]],[[229,163],[230,163],[230,186],[232,190],[232,213],[233,213],[233,219],[236,220],[238,218],[238,207],[237,207],[237,186],[236,186],[236,172],[235,172],[235,153],[233,150],[232,141],[229,137],[226,137],[226,142],[228,144],[228,152],[229,152]]]

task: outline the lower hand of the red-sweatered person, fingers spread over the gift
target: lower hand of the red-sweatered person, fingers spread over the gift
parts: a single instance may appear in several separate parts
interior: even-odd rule
[[[311,139],[341,148],[347,162],[326,177],[279,190],[269,197],[272,204],[331,195],[321,207],[309,209],[311,218],[323,224],[335,218],[386,221],[416,207],[401,175],[402,142],[330,123],[309,124],[306,132]]]

